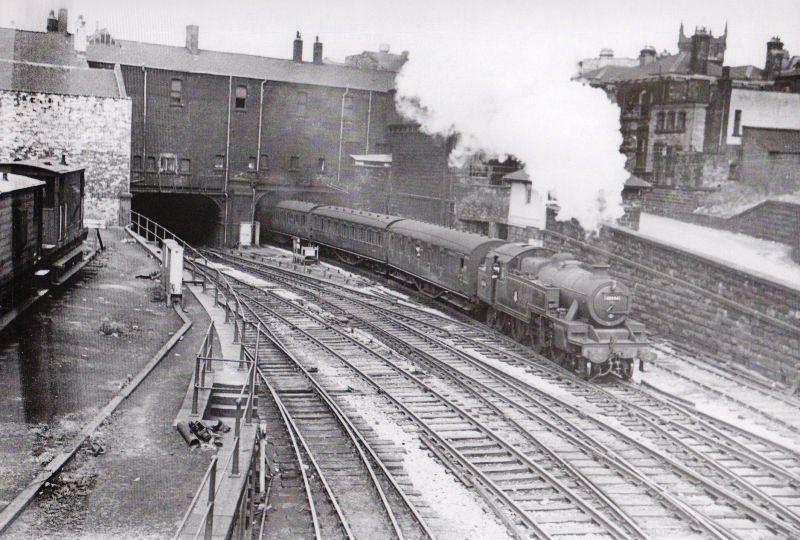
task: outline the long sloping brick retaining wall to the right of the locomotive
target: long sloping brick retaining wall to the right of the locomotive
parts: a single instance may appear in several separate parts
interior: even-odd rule
[[[548,222],[545,244],[611,265],[648,330],[776,380],[800,362],[800,291],[711,259],[606,227],[589,241]],[[581,238],[577,240],[576,238]]]

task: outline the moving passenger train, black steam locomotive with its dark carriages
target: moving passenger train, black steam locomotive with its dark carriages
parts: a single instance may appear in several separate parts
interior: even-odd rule
[[[631,293],[566,253],[430,223],[302,201],[279,203],[271,230],[330,249],[432,298],[482,317],[587,379],[633,375],[652,361]]]

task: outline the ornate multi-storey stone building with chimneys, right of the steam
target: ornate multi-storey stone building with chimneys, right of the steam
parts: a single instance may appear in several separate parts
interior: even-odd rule
[[[766,111],[776,100],[792,101],[775,90],[791,89],[777,77],[791,72],[796,57],[773,38],[764,69],[723,66],[726,41],[727,28],[719,37],[704,28],[687,37],[681,25],[678,54],[657,56],[645,48],[637,67],[607,66],[584,74],[620,106],[621,150],[631,172],[656,186],[704,188],[735,179],[740,147],[732,132],[746,125],[745,107],[738,105],[743,100],[751,110],[745,116],[760,127],[789,127],[781,124],[784,117],[767,119]]]

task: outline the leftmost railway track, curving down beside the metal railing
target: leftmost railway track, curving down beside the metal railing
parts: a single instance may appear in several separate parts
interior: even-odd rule
[[[260,334],[247,336],[243,345],[253,355],[257,351],[258,376],[272,397],[265,401],[273,403],[273,415],[277,413],[286,428],[284,442],[295,457],[287,472],[302,479],[297,487],[302,485],[303,493],[288,496],[302,501],[298,516],[309,519],[291,519],[292,530],[281,534],[433,538],[362,434],[282,342],[262,325]]]

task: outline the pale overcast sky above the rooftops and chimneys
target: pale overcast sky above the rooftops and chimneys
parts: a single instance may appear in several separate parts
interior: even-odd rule
[[[325,56],[333,59],[376,50],[381,43],[395,52],[413,52],[420,40],[463,39],[465,30],[512,41],[538,32],[553,47],[568,49],[576,61],[597,56],[602,47],[613,48],[617,56],[635,57],[645,44],[659,52],[674,51],[681,21],[687,33],[706,26],[714,35],[727,21],[730,65],[761,66],[765,43],[773,35],[800,54],[797,0],[2,0],[0,25],[13,21],[18,28],[43,30],[47,13],[59,7],[69,9],[71,27],[82,14],[90,31],[97,24],[123,39],[182,45],[185,26],[198,24],[201,48],[275,57],[291,57],[296,30],[308,44],[318,34]],[[310,55],[310,46],[305,53]],[[488,60],[475,59],[476,68]]]

